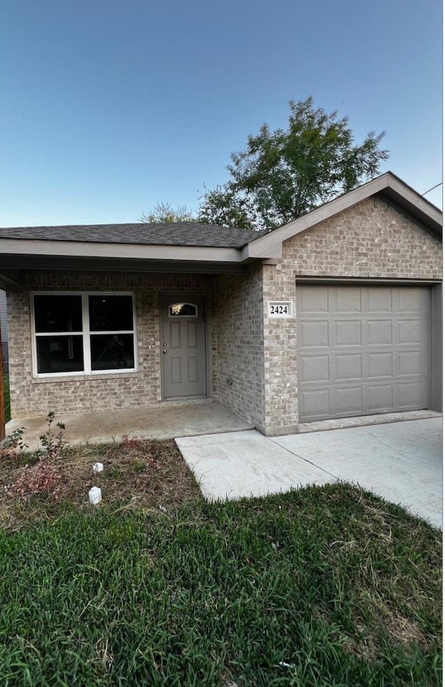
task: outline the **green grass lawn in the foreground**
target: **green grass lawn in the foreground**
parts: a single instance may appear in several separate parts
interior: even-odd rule
[[[350,485],[60,504],[0,533],[0,684],[439,686],[441,565],[439,531]]]

